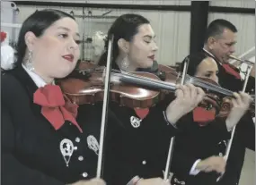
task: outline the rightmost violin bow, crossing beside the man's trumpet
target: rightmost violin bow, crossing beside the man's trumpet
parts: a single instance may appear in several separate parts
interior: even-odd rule
[[[245,92],[245,88],[247,86],[247,83],[248,83],[248,80],[249,80],[249,76],[250,76],[250,71],[252,70],[252,65],[248,65],[247,66],[247,70],[246,70],[246,76],[245,76],[245,80],[243,82],[243,90],[242,92]],[[229,153],[230,153],[230,150],[231,150],[231,146],[232,146],[232,143],[233,143],[233,139],[234,139],[234,131],[235,131],[235,128],[236,128],[236,125],[234,125],[234,128],[232,130],[232,133],[231,133],[231,138],[229,139],[228,141],[228,144],[227,144],[227,147],[225,149],[225,156],[224,156],[224,159],[225,159],[225,162],[227,162],[228,160],[228,156],[229,156]],[[217,179],[216,181],[220,181],[222,178],[223,178],[223,175],[225,174],[225,172],[223,172]]]

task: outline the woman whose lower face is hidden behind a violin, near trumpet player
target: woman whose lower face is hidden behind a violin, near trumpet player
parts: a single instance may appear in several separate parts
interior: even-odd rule
[[[218,82],[216,61],[204,54],[190,55],[188,74]],[[181,64],[184,65],[184,62]],[[226,139],[248,110],[251,97],[234,93],[233,108],[225,122],[223,119],[203,124],[188,117],[190,129],[176,135],[172,158],[172,185],[216,184],[217,173],[225,172]],[[195,110],[193,112],[195,114]],[[203,116],[203,115],[202,115]],[[225,127],[223,127],[225,126]]]

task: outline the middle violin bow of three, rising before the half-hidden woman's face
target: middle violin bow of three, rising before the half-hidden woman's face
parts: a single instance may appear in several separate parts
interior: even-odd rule
[[[189,57],[185,58],[183,71],[182,71],[181,85],[184,85],[184,83],[185,83],[189,63],[190,63]],[[171,170],[170,168],[171,168],[171,163],[172,163],[172,152],[173,152],[173,146],[174,146],[174,139],[175,139],[175,137],[172,137],[172,139],[170,141],[170,147],[169,147],[169,151],[168,151],[167,161],[166,161],[166,164],[165,164],[165,171],[164,171],[164,174],[163,174],[163,181],[169,181],[169,174],[170,174],[170,170]]]

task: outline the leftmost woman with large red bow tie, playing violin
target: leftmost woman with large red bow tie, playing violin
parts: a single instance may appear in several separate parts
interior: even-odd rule
[[[36,11],[22,23],[15,67],[6,71],[1,84],[4,185],[105,184],[101,179],[95,179],[102,105],[77,107],[56,85],[57,79],[74,71],[80,55],[79,40],[74,17],[61,11]],[[172,105],[176,105],[180,114],[173,114],[175,110],[169,105],[164,113],[166,119],[163,112],[158,117],[151,117],[159,125],[165,124],[172,134],[176,130],[174,127],[181,126],[178,120],[182,114],[189,112],[204,96],[194,87],[180,87],[176,92],[177,98]],[[112,185],[127,184],[132,177],[128,173],[119,183],[119,171],[127,172],[130,164],[122,165],[114,172],[111,165],[108,167],[116,162],[111,156],[113,147],[108,144],[113,140],[122,141],[112,135],[112,132],[122,132],[116,115],[110,109],[108,113],[111,130],[106,138],[104,170],[105,175],[109,175],[108,172],[113,175],[106,179]],[[121,146],[126,144],[133,154],[137,153],[137,147],[130,147],[131,142],[120,143]],[[121,147],[114,149],[122,152]],[[130,161],[137,163],[136,159],[131,156]],[[111,183],[115,179],[118,183]],[[163,183],[161,179],[138,181],[135,178],[131,184],[136,181],[145,185]]]

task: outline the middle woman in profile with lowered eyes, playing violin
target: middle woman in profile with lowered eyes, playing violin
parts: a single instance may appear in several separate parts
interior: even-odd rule
[[[138,14],[121,15],[110,27],[108,35],[114,37],[112,69],[127,72],[151,71],[157,66],[154,62],[157,51],[154,30],[145,17]],[[106,65],[106,60],[107,52],[102,55],[99,64]],[[115,168],[123,169],[123,166],[126,166],[127,169],[127,172],[115,170],[120,177],[119,184],[123,183],[124,179],[136,175],[142,178],[163,176],[166,152],[173,136],[172,124],[180,129],[184,127],[185,125],[180,124],[180,118],[193,110],[201,100],[199,97],[203,95],[201,88],[195,88],[193,85],[177,88],[182,91],[176,91],[177,97],[173,101],[163,105],[157,104],[149,109],[121,107],[115,103],[110,105],[128,135],[125,141],[121,142],[127,144],[117,147],[120,149],[112,153],[117,159]],[[169,114],[166,114],[165,121],[164,112]],[[167,141],[162,135],[168,136]],[[140,183],[143,183],[143,180],[138,182]]]

